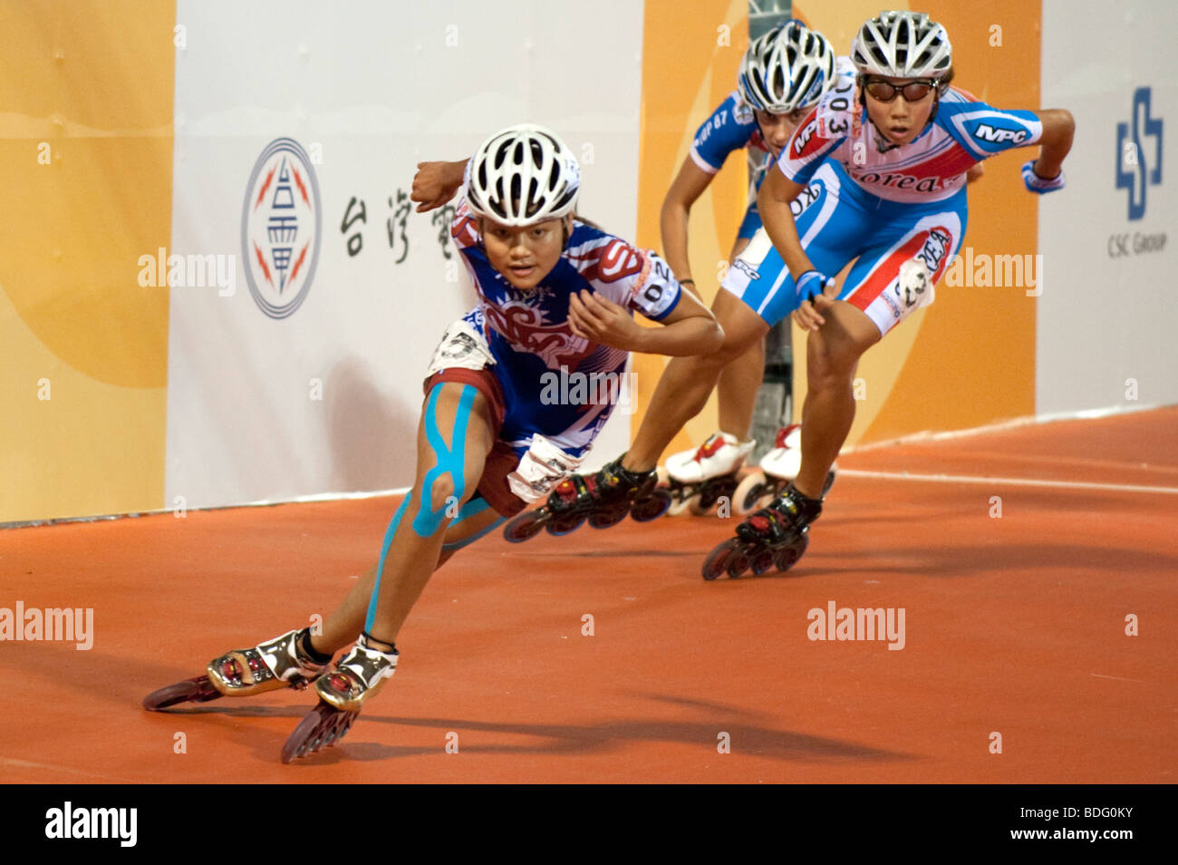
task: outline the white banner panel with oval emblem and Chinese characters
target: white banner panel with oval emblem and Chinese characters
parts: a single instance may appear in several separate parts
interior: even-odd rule
[[[177,8],[165,507],[412,483],[422,381],[474,304],[415,166],[525,120],[633,239],[642,4]],[[160,283],[161,284],[161,283]],[[621,411],[590,462],[629,440]]]

